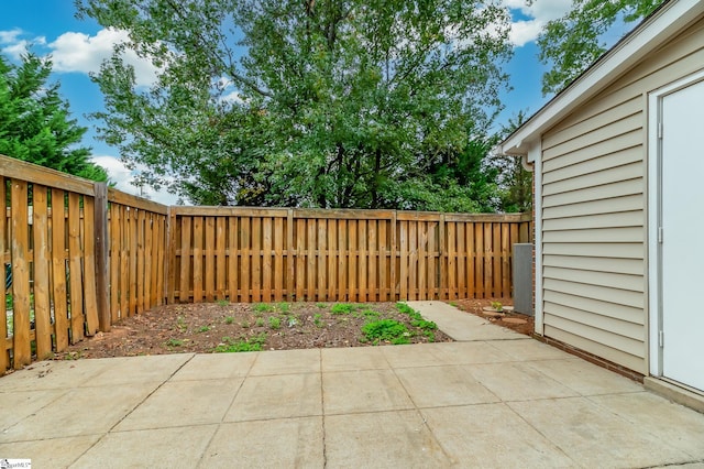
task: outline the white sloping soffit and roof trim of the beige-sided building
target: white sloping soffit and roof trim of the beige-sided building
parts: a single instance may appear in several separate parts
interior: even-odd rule
[[[540,137],[546,130],[587,101],[669,37],[676,35],[703,12],[704,1],[702,0],[670,0],[510,134],[501,144],[502,152],[526,155],[528,162],[535,161],[536,152],[530,150],[539,145]]]

